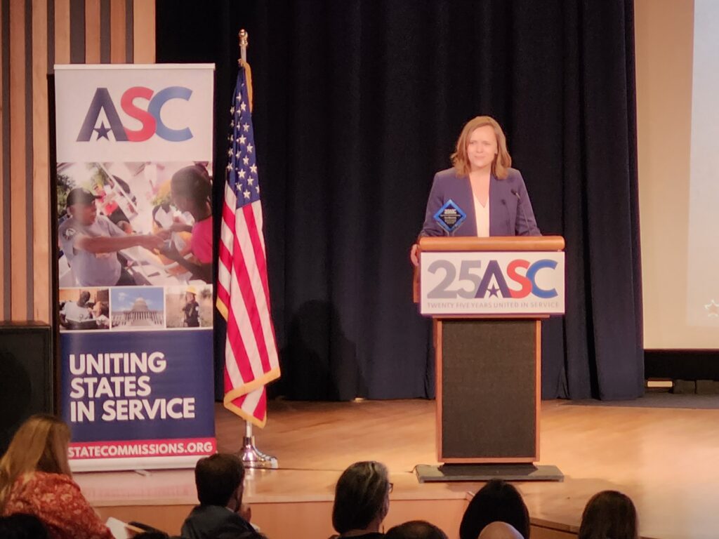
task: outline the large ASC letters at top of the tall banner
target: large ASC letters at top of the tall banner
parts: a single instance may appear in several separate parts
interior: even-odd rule
[[[122,123],[109,90],[97,88],[78,133],[77,142],[89,142],[93,132],[97,133],[95,140],[109,139],[108,133],[112,133],[117,142],[145,142],[154,134],[168,142],[189,140],[193,137],[189,127],[178,129],[165,125],[162,121],[162,107],[175,99],[190,101],[191,96],[192,90],[184,86],[170,86],[157,92],[145,86],[128,88],[122,93],[120,108],[124,114],[139,121],[141,125],[140,129],[130,129]],[[147,101],[145,108],[138,106],[139,101]],[[104,119],[107,119],[109,126],[105,125]]]

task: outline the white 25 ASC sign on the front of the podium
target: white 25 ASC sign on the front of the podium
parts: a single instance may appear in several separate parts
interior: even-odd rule
[[[423,252],[423,315],[563,314],[563,252]]]

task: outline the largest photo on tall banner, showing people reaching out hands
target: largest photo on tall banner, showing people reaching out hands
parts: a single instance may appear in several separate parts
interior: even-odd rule
[[[204,162],[58,164],[60,286],[211,282]]]

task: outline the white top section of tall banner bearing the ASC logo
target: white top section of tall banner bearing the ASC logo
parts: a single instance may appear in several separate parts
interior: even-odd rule
[[[56,65],[58,162],[208,160],[213,83],[211,65]]]

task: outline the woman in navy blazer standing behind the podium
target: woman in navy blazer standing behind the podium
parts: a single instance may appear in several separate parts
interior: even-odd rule
[[[452,165],[434,175],[420,236],[541,236],[495,119],[477,116],[464,124]],[[416,244],[411,259],[418,264]]]

